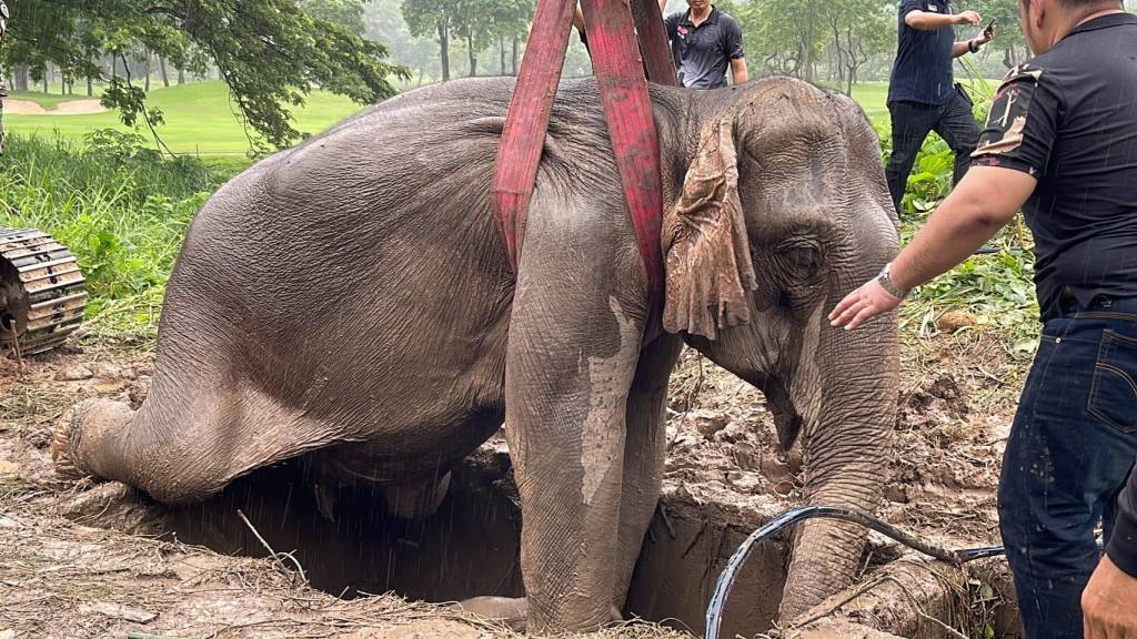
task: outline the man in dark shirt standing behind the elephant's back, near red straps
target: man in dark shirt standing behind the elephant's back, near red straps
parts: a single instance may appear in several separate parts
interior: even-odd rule
[[[659,10],[664,11],[666,5],[667,0],[659,0]],[[728,68],[735,84],[746,82],[749,76],[738,22],[714,8],[709,0],[687,0],[687,11],[663,19],[679,83],[691,89],[725,86]],[[584,16],[579,6],[573,24],[587,48]]]

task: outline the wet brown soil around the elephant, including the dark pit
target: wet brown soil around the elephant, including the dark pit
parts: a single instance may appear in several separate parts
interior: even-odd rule
[[[75,487],[51,472],[49,435],[63,410],[92,396],[138,406],[152,374],[148,342],[80,343],[22,366],[0,358],[0,547],[8,555],[0,556],[0,636],[6,624],[20,637],[124,637],[126,629],[179,630],[181,637],[508,634],[453,611],[371,596],[396,591],[448,601],[521,592],[520,515],[503,443],[483,447],[459,471],[439,514],[418,524],[385,515],[377,495],[337,495],[329,516],[300,464],[234,482],[206,505],[163,508],[122,487]],[[882,513],[946,546],[996,541],[994,487],[1024,363],[977,332],[914,342],[903,362],[893,480]],[[664,497],[629,612],[698,632],[729,555],[753,528],[798,504],[799,462],[794,451],[777,450],[762,395],[694,351],[684,354],[672,377],[667,435]],[[266,547],[291,555],[272,563],[215,554],[268,556]],[[750,561],[727,611],[727,636],[770,628],[787,547],[785,539],[771,543]],[[874,539],[865,566],[899,554]],[[315,590],[296,583],[293,559]],[[107,562],[117,567],[108,572]],[[199,562],[213,566],[201,573],[210,576],[204,584],[176,570]],[[262,596],[266,607],[257,603]],[[200,604],[208,614],[186,603],[201,597],[216,597]],[[297,598],[302,614],[281,621],[280,606]],[[186,606],[199,606],[193,609],[201,614],[184,613]],[[315,608],[332,613],[321,616]],[[207,623],[214,634],[204,633]],[[398,633],[404,630],[410,633]],[[670,633],[646,624],[613,632]]]

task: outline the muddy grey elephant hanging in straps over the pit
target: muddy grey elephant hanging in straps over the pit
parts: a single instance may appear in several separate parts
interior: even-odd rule
[[[504,423],[525,589],[504,607],[530,632],[589,631],[625,604],[687,345],[764,392],[782,448],[800,434],[807,501],[875,509],[896,318],[825,321],[898,244],[860,107],[782,77],[649,85],[654,310],[595,80],[559,84],[511,266],[490,181],[513,88],[409,91],[221,188],[169,277],[149,396],[136,412],[75,406],[55,432],[57,470],[181,504],[304,456],[322,483],[370,482],[421,516]],[[800,528],[781,619],[852,583],[865,538]]]

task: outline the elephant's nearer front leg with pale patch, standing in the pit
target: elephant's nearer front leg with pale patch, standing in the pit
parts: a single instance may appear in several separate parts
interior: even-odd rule
[[[612,262],[545,252],[553,247],[532,238],[530,231],[506,359],[526,628],[595,630],[612,621],[624,415],[642,324],[625,310],[634,305],[621,302],[630,287],[601,267]]]

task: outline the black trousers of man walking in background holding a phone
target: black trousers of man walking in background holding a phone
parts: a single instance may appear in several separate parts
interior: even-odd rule
[[[955,183],[958,184],[971,165],[971,152],[979,143],[979,126],[971,113],[971,101],[958,89],[953,91],[952,99],[945,105],[891,102],[888,113],[893,116],[893,157],[885,173],[888,175],[893,206],[899,213],[912,164],[928,133],[939,133],[952,148],[955,153]]]

